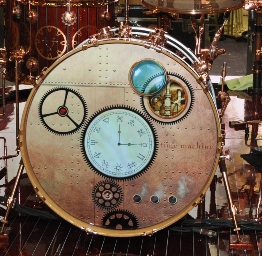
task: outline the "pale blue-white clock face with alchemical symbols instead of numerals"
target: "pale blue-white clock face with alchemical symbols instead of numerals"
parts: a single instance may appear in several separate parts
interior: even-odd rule
[[[127,179],[143,172],[155,152],[151,125],[125,108],[102,111],[83,134],[87,162],[105,177]]]

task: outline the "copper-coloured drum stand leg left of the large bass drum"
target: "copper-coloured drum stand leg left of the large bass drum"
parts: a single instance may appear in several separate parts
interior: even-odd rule
[[[5,228],[5,224],[8,223],[8,215],[9,215],[9,212],[11,210],[11,208],[14,207],[15,205],[15,201],[16,201],[16,198],[15,198],[15,193],[17,191],[17,187],[19,185],[19,182],[20,182],[20,178],[21,178],[21,175],[23,173],[23,170],[24,170],[24,164],[23,164],[23,161],[22,159],[20,160],[20,166],[19,166],[19,169],[17,171],[17,176],[16,176],[16,179],[15,179],[15,184],[13,185],[13,190],[12,190],[12,193],[11,193],[11,196],[8,197],[7,199],[7,202],[6,202],[6,214],[3,218],[3,220],[1,220],[1,222],[3,222],[2,224],[2,227],[1,227],[1,232],[0,232],[0,242],[4,242],[4,243],[8,243],[8,235],[10,235],[10,232],[12,231],[11,228]]]

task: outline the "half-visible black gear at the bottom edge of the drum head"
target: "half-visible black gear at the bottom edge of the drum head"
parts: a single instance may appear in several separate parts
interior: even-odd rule
[[[102,226],[110,229],[137,229],[137,217],[126,210],[109,211],[102,218]]]

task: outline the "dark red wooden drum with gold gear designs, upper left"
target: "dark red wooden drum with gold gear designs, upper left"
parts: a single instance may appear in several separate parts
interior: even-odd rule
[[[81,2],[82,7],[77,7],[77,1],[72,1],[69,8],[59,6],[62,1],[48,1],[46,4],[44,1],[30,1],[31,4],[28,1],[6,1],[6,57],[9,59],[10,53],[19,50],[20,46],[25,51],[19,69],[20,83],[31,84],[30,70],[31,76],[39,75],[43,68],[51,66],[99,29],[114,25],[114,6],[110,4],[114,1],[108,1],[106,6],[99,0],[93,1],[93,5],[89,0]],[[13,14],[14,8],[17,15]],[[103,18],[105,13],[107,16]],[[7,62],[5,77],[9,81],[15,80],[14,62]]]

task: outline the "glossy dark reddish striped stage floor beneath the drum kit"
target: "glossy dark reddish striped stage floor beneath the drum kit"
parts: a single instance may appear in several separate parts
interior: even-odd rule
[[[226,139],[224,150],[230,150],[232,161],[226,162],[229,185],[233,201],[238,210],[240,220],[260,220],[262,216],[261,170],[255,169],[246,162],[241,154],[249,154],[252,148],[262,145],[262,126],[258,123],[249,124],[249,135],[245,136],[245,122],[250,120],[261,120],[262,103],[261,96],[247,94],[246,92],[228,91],[231,101],[226,109],[224,122]],[[20,99],[20,119],[26,98]],[[0,110],[2,111],[2,110]],[[1,113],[1,112],[0,112]],[[15,105],[8,101],[6,116],[1,117],[0,136],[7,141],[7,154],[15,154]],[[200,114],[200,113],[199,113]],[[236,124],[236,127],[234,125]],[[1,155],[3,152],[3,139],[0,141]],[[262,158],[262,157],[261,157]],[[211,159],[212,160],[212,159]],[[194,159],[192,159],[194,161]],[[213,160],[212,160],[213,161]],[[8,197],[13,188],[16,172],[18,170],[20,156],[8,160],[8,173],[0,180],[0,196]],[[258,162],[261,162],[258,160]],[[1,160],[1,168],[4,162]],[[196,166],[201,169],[201,166]],[[19,192],[19,193],[18,193]],[[17,191],[17,203],[35,208],[39,211],[50,211],[48,207],[36,196],[26,172],[22,174]],[[73,202],[68,202],[73,203]],[[227,220],[231,218],[227,210],[228,201],[224,182],[217,168],[210,189],[206,192],[201,204],[190,211],[183,220],[208,219]],[[5,207],[0,208],[0,215],[4,216]],[[262,253],[262,231],[260,225],[256,230],[241,229],[240,235],[250,239],[249,247],[232,248],[230,246],[230,235],[236,234],[233,228],[224,226],[210,227],[206,229],[217,232],[216,237],[208,237],[203,234],[175,231],[181,227],[175,223],[174,227],[168,227],[153,236],[141,236],[132,238],[113,238],[99,235],[87,235],[81,229],[71,225],[64,220],[50,219],[49,216],[37,217],[27,213],[18,213],[11,210],[8,224],[10,227],[8,236],[0,236],[0,256],[10,255],[261,255]],[[181,220],[182,221],[182,220]],[[196,220],[199,222],[199,220]],[[229,221],[230,224],[233,223]],[[213,223],[213,222],[212,222]],[[226,222],[228,225],[228,222]],[[213,224],[216,226],[216,224]],[[217,224],[218,225],[218,224]],[[233,227],[233,225],[231,224]],[[191,224],[192,227],[192,224]],[[192,229],[191,229],[192,230]],[[261,226],[262,230],[262,226]],[[8,232],[8,229],[7,229]],[[238,245],[237,245],[238,247]]]

